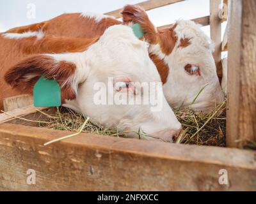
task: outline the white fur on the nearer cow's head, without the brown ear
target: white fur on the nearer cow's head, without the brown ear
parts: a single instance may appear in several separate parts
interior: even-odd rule
[[[132,131],[141,128],[149,135],[171,141],[181,124],[164,98],[163,89],[157,93],[163,98],[159,112],[151,112],[151,105],[96,105],[93,101],[97,92],[93,89],[95,83],[108,84],[109,77],[129,78],[131,82],[161,82],[147,49],[148,43],[138,40],[131,27],[113,25],[84,52],[49,54],[56,64],[59,61],[76,64],[76,73],[65,83],[72,86],[77,96],[66,100],[63,106],[84,113],[92,122],[106,128],[131,131],[131,136]]]

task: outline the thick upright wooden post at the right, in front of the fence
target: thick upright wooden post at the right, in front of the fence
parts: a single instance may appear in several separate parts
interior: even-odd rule
[[[229,4],[227,145],[242,148],[256,141],[256,1]]]

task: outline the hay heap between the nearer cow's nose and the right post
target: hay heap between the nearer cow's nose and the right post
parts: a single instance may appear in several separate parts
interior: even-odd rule
[[[184,129],[184,133],[177,138],[177,143],[226,146],[226,102],[216,105],[207,114],[176,110],[175,115]]]

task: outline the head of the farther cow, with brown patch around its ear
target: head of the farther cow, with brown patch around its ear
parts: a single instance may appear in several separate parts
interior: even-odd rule
[[[125,6],[122,15],[125,24],[139,23],[143,28],[172,108],[207,111],[223,101],[211,40],[195,22],[179,20],[171,27],[157,29],[145,10],[133,5]]]

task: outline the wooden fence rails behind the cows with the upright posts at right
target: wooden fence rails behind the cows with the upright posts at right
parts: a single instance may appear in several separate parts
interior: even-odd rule
[[[161,6],[179,3],[183,0],[151,0],[139,3],[145,10],[152,10]],[[189,1],[189,0],[186,0]],[[211,26],[211,39],[216,44],[214,60],[217,66],[218,76],[223,74],[224,80],[227,80],[227,147],[243,148],[244,141],[255,141],[255,98],[256,98],[256,57],[255,48],[251,45],[255,43],[256,35],[253,34],[256,27],[256,3],[255,0],[209,0],[210,16],[200,17],[194,20],[198,24]],[[227,20],[227,17],[221,16],[226,12],[227,6],[220,8],[220,5],[228,5],[230,17],[228,17],[227,27],[223,41],[221,41],[221,23]],[[232,6],[230,6],[230,4]],[[119,18],[121,10],[106,13]],[[230,20],[231,19],[231,20]],[[246,24],[245,22],[249,22]],[[231,22],[230,22],[231,21]],[[163,25],[159,28],[170,27]],[[244,31],[246,30],[246,31]],[[232,32],[232,36],[228,33]],[[228,43],[229,38],[231,39]],[[250,41],[250,43],[248,43]],[[229,50],[228,59],[221,60],[221,52]],[[222,63],[221,63],[222,62]],[[232,71],[228,71],[232,70]],[[228,76],[228,77],[227,77]],[[250,104],[253,105],[250,105]],[[239,110],[243,110],[239,112]]]

